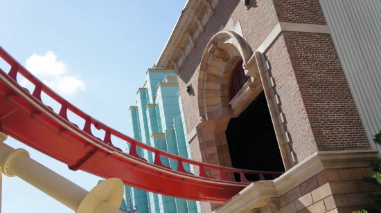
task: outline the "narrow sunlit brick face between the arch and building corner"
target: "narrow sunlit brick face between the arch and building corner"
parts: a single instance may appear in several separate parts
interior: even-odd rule
[[[265,55],[272,68],[276,92],[281,98],[281,110],[285,114],[292,147],[298,160],[303,160],[317,151],[317,146],[283,35],[276,39]]]

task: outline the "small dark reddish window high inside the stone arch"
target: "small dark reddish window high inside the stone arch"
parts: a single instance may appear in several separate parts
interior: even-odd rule
[[[242,86],[246,82],[251,82],[251,77],[245,75],[245,71],[242,68],[243,61],[240,60],[236,67],[234,67],[233,73],[231,73],[230,87],[229,87],[229,100],[232,100],[234,96],[240,91]]]

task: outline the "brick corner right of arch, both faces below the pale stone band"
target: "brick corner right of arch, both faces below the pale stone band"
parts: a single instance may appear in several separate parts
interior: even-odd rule
[[[330,35],[283,32],[265,55],[297,160],[371,148]]]

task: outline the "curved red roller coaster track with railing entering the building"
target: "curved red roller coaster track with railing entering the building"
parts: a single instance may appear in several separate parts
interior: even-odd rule
[[[211,203],[224,203],[249,185],[245,174],[257,175],[260,180],[265,180],[265,176],[275,178],[282,174],[219,167],[154,149],[74,107],[39,81],[1,47],[0,57],[10,65],[8,73],[0,68],[0,131],[60,160],[69,165],[70,169],[82,169],[103,178],[118,177],[126,185],[150,192]],[[33,93],[29,93],[17,82],[19,75],[34,85]],[[59,113],[55,113],[42,102],[42,93],[60,104]],[[68,111],[85,120],[82,129],[69,121]],[[104,131],[103,140],[91,133],[91,125],[99,131]],[[114,147],[112,136],[130,145],[128,154]],[[139,156],[136,147],[151,152],[154,155],[154,163],[148,163]],[[177,160],[177,169],[164,166],[160,156]],[[186,172],[183,163],[200,172],[197,175]],[[208,172],[219,174],[219,179],[209,176]],[[228,178],[229,174],[233,173],[240,174],[240,182]]]

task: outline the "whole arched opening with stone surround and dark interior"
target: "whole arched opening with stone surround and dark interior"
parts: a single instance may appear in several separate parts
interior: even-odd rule
[[[245,39],[230,31],[217,33],[204,50],[197,86],[201,158],[228,167],[284,171],[288,167],[282,157],[287,149],[280,146],[287,145],[280,136],[285,133],[275,133],[270,112],[273,115],[276,108],[267,105],[263,88],[268,79],[262,82],[258,54],[250,57],[249,53]],[[209,175],[220,174],[211,171]]]

